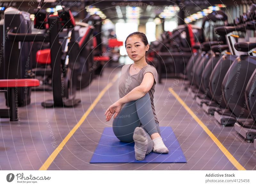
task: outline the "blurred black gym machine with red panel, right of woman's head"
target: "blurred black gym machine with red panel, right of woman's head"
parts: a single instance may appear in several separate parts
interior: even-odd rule
[[[149,57],[156,58],[153,63],[159,63],[155,65],[159,83],[165,76],[184,78],[185,66],[192,55],[191,47],[195,44],[198,29],[194,25],[180,25],[172,33],[163,33],[158,41],[150,43]]]

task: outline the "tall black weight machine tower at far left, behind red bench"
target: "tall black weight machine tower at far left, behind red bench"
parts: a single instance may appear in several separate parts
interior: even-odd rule
[[[3,39],[4,39],[4,63],[1,68],[4,68],[3,79],[26,79],[32,68],[30,63],[30,43],[20,40],[19,42],[12,42],[8,38],[10,32],[15,32],[17,35],[26,33],[30,35],[30,14],[27,12],[19,11],[15,8],[9,7],[5,10],[4,26],[3,26]],[[10,68],[12,67],[12,68]],[[18,88],[18,106],[25,106],[30,103],[31,88],[24,87]],[[9,95],[10,96],[10,95]],[[5,94],[6,105],[7,93]]]

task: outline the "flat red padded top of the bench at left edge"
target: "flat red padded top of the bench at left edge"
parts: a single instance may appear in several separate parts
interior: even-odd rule
[[[39,80],[37,79],[7,79],[0,80],[0,87],[37,87],[39,86]]]

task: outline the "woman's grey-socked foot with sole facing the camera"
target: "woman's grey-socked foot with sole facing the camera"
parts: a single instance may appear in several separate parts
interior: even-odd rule
[[[143,160],[146,156],[148,139],[146,132],[141,127],[136,127],[133,133],[135,159]]]

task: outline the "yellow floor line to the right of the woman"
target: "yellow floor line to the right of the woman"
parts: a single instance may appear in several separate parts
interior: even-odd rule
[[[174,92],[172,88],[169,88],[172,95],[180,102],[180,104],[188,111],[188,113],[196,120],[196,122],[204,129],[206,134],[210,136],[214,143],[219,147],[219,149],[224,153],[228,160],[237,168],[237,170],[246,170],[233,156],[230,152],[220,143],[220,141],[212,134],[212,132],[204,125],[204,123],[194,114],[194,112],[186,105],[186,103]]]

